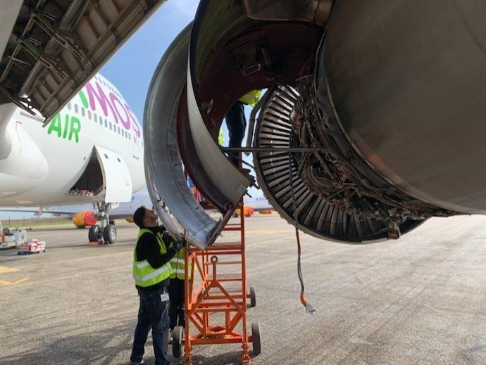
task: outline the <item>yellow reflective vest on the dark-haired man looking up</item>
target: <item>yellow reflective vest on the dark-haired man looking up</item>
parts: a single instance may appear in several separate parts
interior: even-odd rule
[[[137,246],[139,244],[140,237],[142,237],[144,233],[155,234],[150,229],[142,228],[139,230],[137,244],[135,245],[135,251],[133,252],[132,273],[133,278],[135,279],[135,284],[137,286],[142,286],[142,288],[147,288],[147,286],[154,286],[161,283],[161,281],[166,280],[166,278],[169,278],[170,275],[173,274],[173,271],[172,267],[170,266],[170,262],[167,262],[161,267],[154,269],[150,266],[147,260],[137,261]],[[167,253],[166,245],[163,243],[161,233],[156,233],[155,236],[157,238],[158,246],[161,248],[161,254]]]

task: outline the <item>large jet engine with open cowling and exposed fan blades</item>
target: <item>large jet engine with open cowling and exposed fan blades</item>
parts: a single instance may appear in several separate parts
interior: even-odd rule
[[[289,223],[335,241],[484,214],[485,18],[482,0],[201,1],[147,96],[146,170],[163,221],[204,248],[255,183]],[[248,126],[256,181],[216,142],[253,89],[266,89]]]

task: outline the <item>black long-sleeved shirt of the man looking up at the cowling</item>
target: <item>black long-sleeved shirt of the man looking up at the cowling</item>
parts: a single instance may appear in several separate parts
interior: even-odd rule
[[[135,249],[135,253],[137,255],[137,261],[147,260],[151,267],[154,269],[158,269],[164,264],[167,264],[170,259],[174,257],[177,253],[174,247],[170,247],[170,243],[173,241],[172,238],[168,234],[164,234],[166,229],[163,227],[142,227],[144,229],[149,229],[150,231],[154,232],[151,233],[144,233],[140,236],[139,241],[137,243],[137,248]],[[160,232],[163,236],[163,243],[166,245],[167,252],[165,254],[161,253],[161,248],[158,245],[156,234]],[[137,286],[137,289],[140,290],[154,290],[160,289],[162,287],[167,287],[169,285],[170,279],[166,279],[161,281],[160,283],[156,283],[153,286]]]

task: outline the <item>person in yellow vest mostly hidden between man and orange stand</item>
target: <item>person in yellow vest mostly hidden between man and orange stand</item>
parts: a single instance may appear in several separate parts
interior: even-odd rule
[[[172,343],[173,331],[175,326],[185,328],[185,296],[184,296],[184,278],[185,278],[185,248],[177,251],[175,256],[170,260],[172,266],[172,275],[168,286],[170,305],[169,305],[169,343]],[[187,278],[191,279],[191,265],[187,267]]]

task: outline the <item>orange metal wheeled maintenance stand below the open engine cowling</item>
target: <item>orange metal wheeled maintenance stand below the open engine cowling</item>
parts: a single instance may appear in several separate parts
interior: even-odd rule
[[[243,205],[239,206],[240,211]],[[192,365],[194,345],[242,344],[242,364],[250,364],[261,352],[260,325],[251,324],[247,335],[248,305],[256,305],[255,288],[247,285],[244,246],[244,214],[237,223],[226,224],[223,231],[239,231],[235,242],[216,242],[201,251],[188,247],[185,255],[185,324],[174,328],[174,357],[182,356]]]

